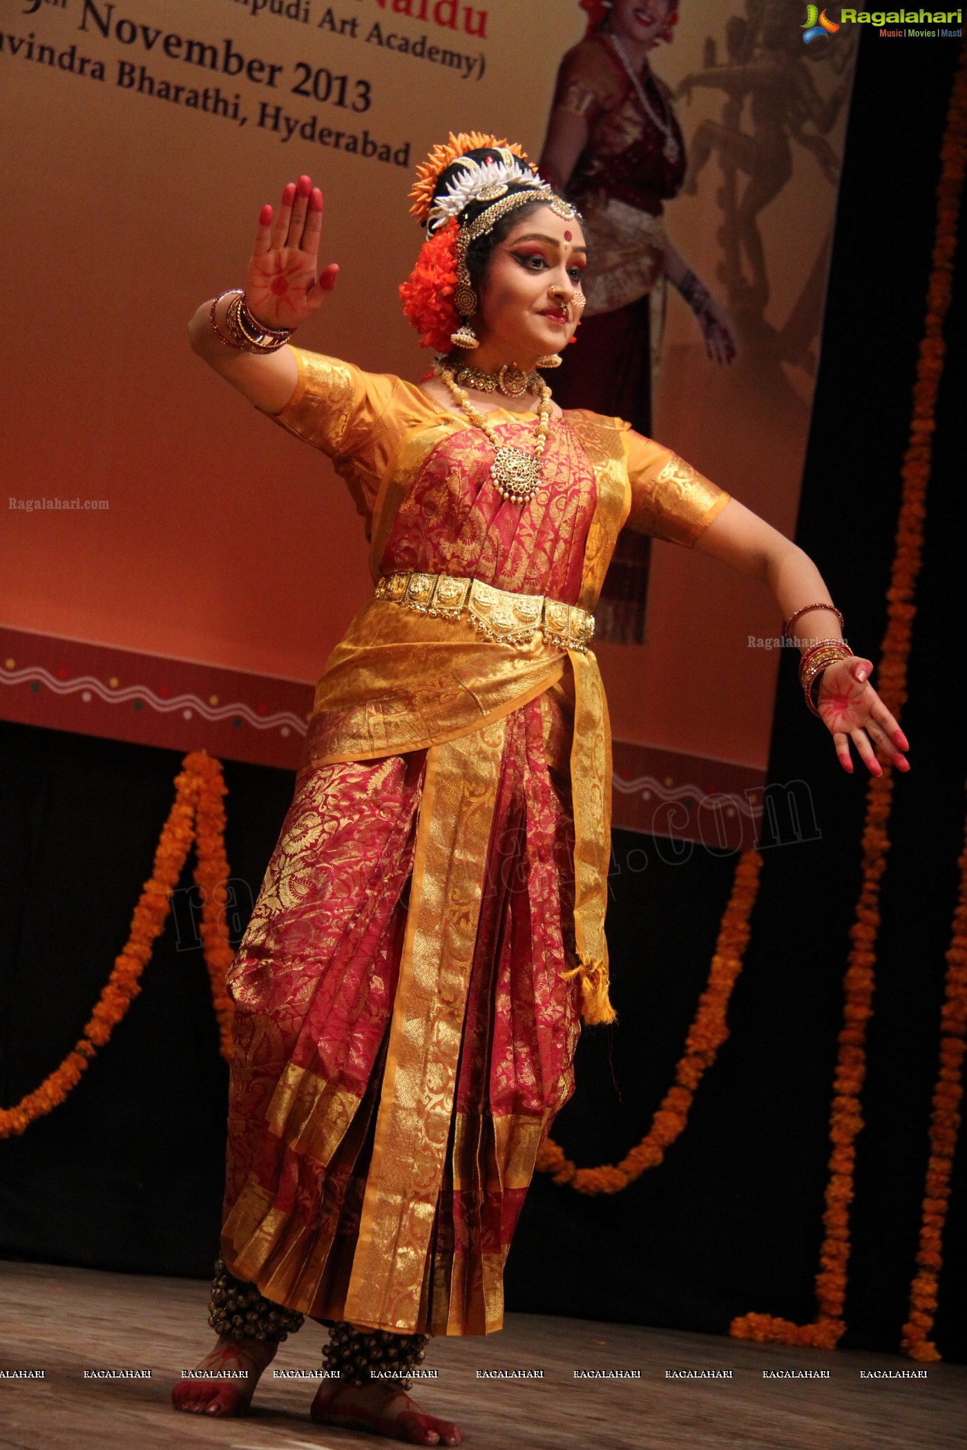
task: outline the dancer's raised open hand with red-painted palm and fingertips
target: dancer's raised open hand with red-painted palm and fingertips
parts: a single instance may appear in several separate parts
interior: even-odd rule
[[[339,267],[318,274],[322,191],[312,177],[290,181],[278,212],[268,203],[258,218],[255,246],[245,276],[245,303],[267,328],[297,328],[332,291]]]

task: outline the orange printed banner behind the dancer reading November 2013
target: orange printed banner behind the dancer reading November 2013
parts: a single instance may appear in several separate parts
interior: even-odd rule
[[[651,55],[687,158],[665,231],[738,338],[736,362],[716,365],[674,289],[651,299],[655,328],[665,312],[652,432],[786,532],[855,30],[806,44],[805,20],[792,3],[736,14],[702,0]],[[193,357],[187,320],[238,284],[260,206],[309,171],[341,277],[300,344],[423,376],[397,296],[420,242],[413,168],[451,129],[539,157],[586,23],[577,0],[0,0],[17,338],[3,362],[0,619],[17,638],[236,671],[270,693],[319,676],[371,589],[361,522],[323,458]],[[658,544],[647,589],[645,642],[600,647],[629,825],[648,800],[707,793],[715,763],[736,799],[761,784],[776,674],[776,652],[748,642],[777,634],[757,586]],[[223,680],[191,679],[199,699],[223,695]],[[29,718],[96,728],[80,703],[70,715],[81,693],[55,705],[41,684]],[[14,695],[0,692],[0,713]],[[209,724],[193,710],[186,748],[209,744]],[[284,748],[296,742],[293,729]]]

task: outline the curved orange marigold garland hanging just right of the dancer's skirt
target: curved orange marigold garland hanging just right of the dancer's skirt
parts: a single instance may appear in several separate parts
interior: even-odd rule
[[[763,858],[758,851],[744,851],[738,860],[732,892],[719,925],[709,982],[699,998],[684,1053],[676,1067],[674,1086],[663,1098],[651,1128],[621,1163],[603,1163],[596,1169],[578,1169],[564,1156],[564,1150],[548,1138],[538,1153],[536,1166],[542,1173],[551,1173],[555,1183],[570,1183],[578,1193],[618,1193],[639,1179],[647,1169],[657,1167],[665,1150],[681,1135],[694,1092],[729,1035],[726,1012],[732,987],[742,970],[761,866]]]

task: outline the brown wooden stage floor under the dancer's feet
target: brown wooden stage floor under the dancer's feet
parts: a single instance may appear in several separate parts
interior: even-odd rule
[[[245,1420],[180,1415],[181,1369],[207,1351],[207,1288],[197,1280],[0,1264],[0,1450],[373,1450],[380,1441],[309,1420],[315,1386],[262,1380]],[[323,1330],[281,1346],[274,1369],[313,1370]],[[420,1398],[457,1420],[468,1450],[948,1450],[967,1444],[967,1367],[926,1379],[861,1379],[910,1360],[742,1344],[703,1334],[541,1315],[509,1315],[503,1334],[436,1340],[439,1379]],[[151,1370],[151,1379],[84,1379],[84,1370]],[[477,1379],[542,1369],[544,1379]],[[641,1379],[574,1379],[574,1370],[641,1370]],[[829,1370],[764,1379],[763,1370]],[[732,1370],[732,1379],[668,1379]],[[383,1441],[396,1444],[399,1441]]]

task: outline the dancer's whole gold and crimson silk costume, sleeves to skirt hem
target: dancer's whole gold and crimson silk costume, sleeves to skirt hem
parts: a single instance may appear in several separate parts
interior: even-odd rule
[[[728,494],[626,423],[570,412],[538,493],[505,502],[465,419],[400,378],[297,357],[278,422],[333,460],[374,579],[406,597],[380,586],[326,664],[229,972],[222,1253],[316,1318],[486,1334],[573,1090],[581,977],[600,989],[607,961],[600,676],[528,610],[592,610],[623,525],[690,545]],[[531,447],[532,422],[491,422]],[[435,576],[477,580],[484,605],[518,596],[519,616],[432,612]]]

